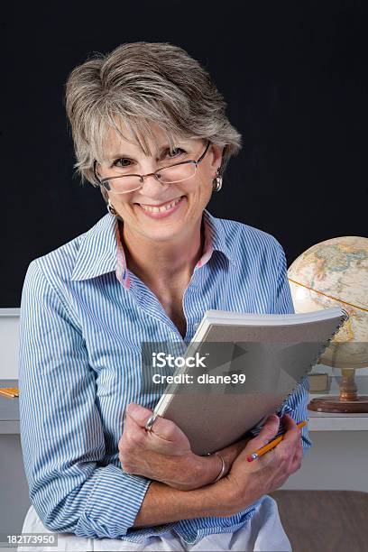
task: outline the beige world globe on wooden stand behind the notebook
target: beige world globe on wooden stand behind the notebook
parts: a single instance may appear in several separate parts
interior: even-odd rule
[[[296,313],[340,306],[349,315],[318,361],[341,369],[340,404],[328,400],[326,406],[326,397],[309,408],[368,411],[368,398],[358,397],[354,383],[354,369],[368,366],[368,238],[349,235],[313,245],[292,262],[288,278]]]

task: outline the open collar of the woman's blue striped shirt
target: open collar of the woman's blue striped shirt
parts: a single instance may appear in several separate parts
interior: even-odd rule
[[[205,244],[203,254],[196,268],[203,266],[214,251],[223,253],[234,266],[238,266],[235,253],[226,243],[223,221],[212,216],[207,209],[203,211],[205,224]],[[129,288],[129,274],[126,270],[124,248],[121,244],[117,219],[111,213],[103,216],[81,236],[71,281],[82,281],[97,278],[107,272],[116,271],[116,276]]]

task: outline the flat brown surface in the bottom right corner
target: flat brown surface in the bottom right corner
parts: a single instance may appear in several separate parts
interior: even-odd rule
[[[368,492],[271,493],[293,552],[367,552]]]

